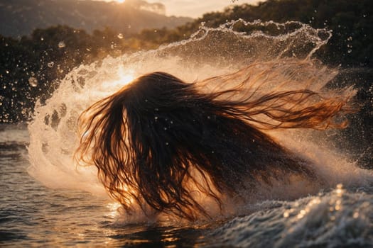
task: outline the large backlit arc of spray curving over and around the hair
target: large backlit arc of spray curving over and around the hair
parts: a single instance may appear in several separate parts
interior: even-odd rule
[[[78,142],[77,118],[92,103],[114,93],[131,79],[153,71],[165,71],[192,82],[246,67],[250,80],[260,84],[265,82],[263,91],[276,87],[319,90],[337,73],[313,60],[315,52],[330,37],[330,30],[313,29],[294,21],[237,20],[219,28],[208,28],[202,23],[188,40],[163,45],[157,50],[107,57],[90,65],[81,65],[60,81],[59,88],[44,105],[38,103],[36,106],[35,117],[28,126],[31,135],[29,172],[50,187],[79,188],[105,195],[97,180],[96,169],[77,167],[72,158]],[[227,86],[220,83],[215,81],[215,86]],[[234,83],[237,82],[229,82]],[[323,174],[335,179],[333,184],[348,180],[359,184],[360,176],[366,174],[364,171],[337,154],[330,158],[330,151],[321,151],[306,138],[299,140],[297,132],[273,135],[279,137],[283,145],[311,159],[317,160],[324,154],[317,164]],[[300,147],[307,148],[302,150]],[[323,169],[325,167],[328,169]],[[352,179],[343,176],[346,168],[355,175]],[[335,171],[342,176],[335,176]],[[371,175],[366,177],[369,181]],[[277,189],[279,191],[267,192],[267,196],[294,198],[309,193],[294,187],[279,186]],[[276,195],[280,191],[281,194]]]

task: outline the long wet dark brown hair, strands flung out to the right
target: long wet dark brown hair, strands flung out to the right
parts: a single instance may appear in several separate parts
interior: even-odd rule
[[[97,167],[128,213],[137,205],[188,220],[209,216],[201,195],[222,207],[222,196],[239,198],[258,182],[314,179],[308,162],[264,130],[342,128],[333,118],[351,110],[348,99],[308,89],[254,97],[244,85],[206,92],[165,72],[145,74],[80,115],[77,159]]]

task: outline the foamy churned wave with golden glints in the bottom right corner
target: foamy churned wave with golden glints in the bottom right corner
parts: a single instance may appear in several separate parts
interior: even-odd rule
[[[372,193],[372,188],[364,188]],[[298,201],[264,201],[213,230],[217,247],[371,247],[371,194],[341,184]]]

